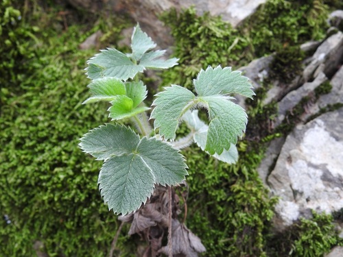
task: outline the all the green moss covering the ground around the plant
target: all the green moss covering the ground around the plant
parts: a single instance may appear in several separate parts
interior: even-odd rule
[[[209,14],[196,16],[192,9],[165,14],[180,65],[163,73],[162,86],[187,87],[208,65],[238,67],[272,51],[284,53],[306,40],[323,38],[328,10],[323,3],[329,1],[268,1],[239,29]],[[99,197],[100,163],[78,149],[78,138],[108,121],[106,106],[81,105],[88,94],[83,69],[96,50],[80,51],[78,45],[97,29],[106,32],[102,47],[115,44],[127,21],[65,10],[54,1],[1,3],[0,215],[12,222],[0,221],[1,256],[34,256],[35,241],[44,243],[49,256],[106,256],[119,225]],[[284,65],[294,63],[294,58],[282,57]],[[202,238],[206,256],[275,254],[270,220],[276,199],[270,199],[256,170],[263,142],[277,136],[268,127],[276,110],[274,103],[263,105],[265,88],[249,102],[250,119],[246,137],[238,144],[237,164],[213,160],[197,147],[182,152],[190,173],[186,222]],[[318,230],[313,230],[318,232],[314,240],[305,241],[303,232],[314,226],[304,225],[303,232],[287,241],[296,245],[294,253],[305,247],[314,249],[308,256],[316,256],[317,248],[327,252],[335,245],[330,219],[316,223],[323,236],[331,235],[329,245],[323,245]],[[135,254],[139,238],[129,238],[127,230],[124,226],[119,236],[118,256]]]

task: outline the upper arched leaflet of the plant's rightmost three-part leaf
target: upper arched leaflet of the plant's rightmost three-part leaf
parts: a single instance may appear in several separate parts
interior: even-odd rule
[[[200,71],[193,84],[199,96],[239,94],[251,98],[255,93],[248,80],[240,71],[231,71],[230,67],[213,69],[209,66],[206,71]]]

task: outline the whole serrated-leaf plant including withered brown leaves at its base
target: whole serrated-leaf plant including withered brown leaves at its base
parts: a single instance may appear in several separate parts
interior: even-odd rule
[[[196,236],[175,219],[177,212],[173,209],[178,207],[171,186],[184,183],[187,175],[185,158],[178,149],[195,142],[211,156],[224,162],[235,162],[235,144],[237,137],[246,129],[247,116],[231,101],[233,97],[230,94],[252,97],[252,86],[248,78],[229,67],[202,70],[193,80],[195,93],[182,86],[171,85],[156,95],[150,115],[150,119],[154,119],[152,130],[145,114],[150,108],[143,102],[147,90],[137,75],[146,68],[167,69],[176,65],[177,59],[163,60],[161,57],[165,51],[152,51],[156,45],[139,25],[134,28],[131,47],[132,53],[106,49],[88,60],[86,70],[92,79],[88,85],[91,97],[84,103],[108,101],[109,117],[118,123],[91,130],[81,138],[80,147],[97,160],[104,160],[98,179],[101,194],[109,209],[125,215],[121,217],[122,221],[132,222],[131,234],[145,231],[149,238],[154,238],[150,227],[156,223],[168,228],[169,235],[173,230],[174,236],[168,240],[173,242],[172,249],[161,248],[161,239],[161,249],[150,245],[152,256],[156,252],[186,255],[192,251],[203,252],[204,247]],[[208,124],[198,117],[197,108],[208,111]],[[132,128],[123,125],[128,118],[134,125]],[[190,132],[175,140],[182,121]],[[167,186],[167,189],[155,185]],[[150,199],[147,201],[147,198]],[[164,210],[163,206],[169,206],[169,209]],[[150,222],[144,223],[142,217]],[[169,224],[166,224],[166,219]],[[147,228],[150,232],[146,231]],[[198,245],[196,241],[199,241]]]

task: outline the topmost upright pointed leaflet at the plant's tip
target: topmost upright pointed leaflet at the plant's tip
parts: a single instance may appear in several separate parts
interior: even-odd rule
[[[141,60],[143,54],[154,47],[156,47],[154,41],[137,24],[133,29],[131,37],[132,58],[137,61]]]

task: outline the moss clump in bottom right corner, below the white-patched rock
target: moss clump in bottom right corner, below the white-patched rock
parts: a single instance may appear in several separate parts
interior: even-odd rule
[[[270,238],[269,256],[324,256],[342,243],[333,225],[332,215],[312,211],[311,219],[300,219],[282,234]]]

